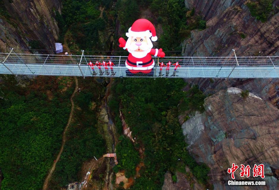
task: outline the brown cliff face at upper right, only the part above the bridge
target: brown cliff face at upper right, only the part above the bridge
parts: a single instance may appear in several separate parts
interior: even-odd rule
[[[195,8],[207,21],[207,29],[192,31],[186,40],[185,56],[229,56],[230,51],[212,52],[213,50],[243,50],[237,56],[274,55],[279,46],[279,13],[271,16],[265,23],[251,16],[245,0],[185,0],[187,8]],[[279,1],[275,1],[275,6]],[[276,9],[276,8],[275,8]],[[241,35],[241,34],[244,34]],[[242,38],[244,37],[244,38]],[[199,52],[207,51],[207,52]],[[278,54],[277,54],[278,55]]]

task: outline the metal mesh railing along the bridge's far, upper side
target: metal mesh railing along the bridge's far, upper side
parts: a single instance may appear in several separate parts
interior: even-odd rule
[[[8,56],[9,53],[0,53],[0,60]],[[96,61],[109,61],[111,60],[115,65],[125,65],[127,56],[81,56],[81,55],[45,55],[45,54],[22,54],[22,53],[10,53],[5,62],[9,63],[32,63],[32,64],[87,64],[89,61],[95,63]],[[157,63],[158,58],[153,57]],[[213,65],[213,66],[234,66],[237,64],[243,66],[268,66],[278,65],[278,56],[254,56],[254,57],[164,57],[159,58],[159,62],[165,64],[171,61],[173,64],[179,62],[181,66],[201,66],[201,65]]]

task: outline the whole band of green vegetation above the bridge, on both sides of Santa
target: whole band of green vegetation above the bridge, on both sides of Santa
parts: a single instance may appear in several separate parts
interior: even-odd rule
[[[126,38],[126,32],[139,19],[145,10],[155,26],[160,24],[163,32],[158,46],[164,51],[177,51],[180,43],[190,35],[193,29],[205,29],[205,20],[192,9],[187,14],[184,1],[181,0],[65,0],[62,2],[62,14],[56,13],[61,30],[59,42],[64,37],[71,50],[93,50],[95,54],[116,50],[114,55],[127,55],[118,47],[118,38]],[[177,35],[178,34],[178,35]],[[171,46],[170,46],[171,44]],[[109,53],[110,54],[110,53]]]

